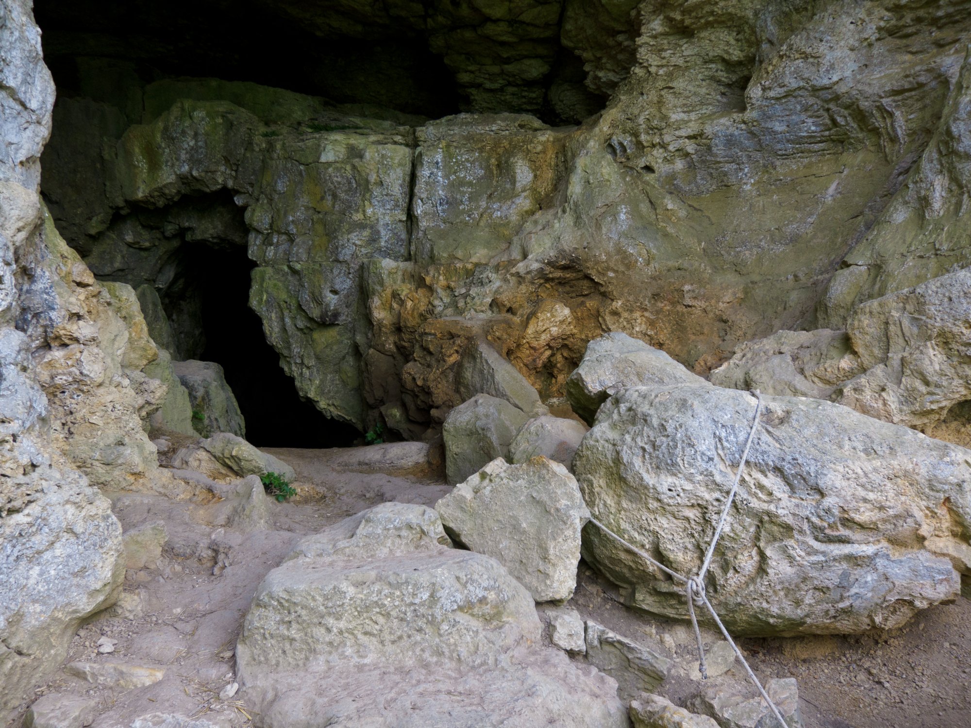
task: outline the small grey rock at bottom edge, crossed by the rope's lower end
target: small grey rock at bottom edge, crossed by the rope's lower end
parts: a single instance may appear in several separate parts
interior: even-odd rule
[[[688,707],[710,715],[720,728],[761,728],[778,725],[765,700],[754,685],[748,688],[726,688],[710,685],[688,700]],[[799,714],[799,687],[794,678],[773,678],[765,683],[765,692],[786,719],[789,728],[802,728]]]

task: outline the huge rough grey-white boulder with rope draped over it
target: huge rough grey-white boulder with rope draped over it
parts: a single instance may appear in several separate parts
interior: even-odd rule
[[[729,630],[852,634],[953,600],[971,564],[971,451],[820,400],[763,397],[707,579]],[[605,525],[694,574],[749,435],[755,398],[714,386],[619,392],[574,467]],[[630,604],[686,618],[679,585],[587,526],[584,555]]]

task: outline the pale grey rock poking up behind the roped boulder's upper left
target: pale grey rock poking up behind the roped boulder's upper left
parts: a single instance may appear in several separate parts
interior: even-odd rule
[[[592,425],[600,405],[623,387],[704,383],[659,348],[612,331],[586,345],[580,366],[566,381],[566,398]]]

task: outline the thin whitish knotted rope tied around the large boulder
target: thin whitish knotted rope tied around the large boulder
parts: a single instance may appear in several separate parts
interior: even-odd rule
[[[735,471],[735,480],[732,482],[731,490],[728,492],[728,497],[725,499],[725,505],[721,509],[721,514],[719,517],[719,521],[716,524],[715,533],[712,536],[712,541],[708,545],[708,549],[705,551],[705,558],[702,561],[701,568],[698,570],[698,574],[696,576],[686,577],[682,574],[679,574],[676,571],[673,571],[672,569],[669,569],[668,567],[664,566],[664,564],[660,563],[652,556],[650,556],[648,553],[644,552],[642,549],[638,548],[637,546],[634,546],[630,542],[619,537],[616,533],[611,531],[609,528],[607,528],[607,526],[605,526],[603,523],[598,521],[596,518],[590,516],[589,522],[595,525],[605,534],[610,536],[612,539],[617,541],[621,546],[624,546],[632,553],[637,554],[645,561],[647,561],[648,563],[652,564],[654,567],[659,569],[661,572],[667,574],[672,579],[681,581],[685,584],[685,598],[687,601],[687,613],[691,619],[691,628],[694,630],[694,639],[698,645],[698,672],[701,673],[701,678],[708,679],[708,666],[705,663],[705,645],[704,645],[704,641],[701,639],[701,630],[698,628],[698,619],[694,611],[695,607],[704,607],[708,611],[708,613],[711,614],[712,619],[715,620],[715,623],[719,627],[721,635],[725,638],[725,641],[728,643],[728,645],[731,645],[732,650],[734,650],[735,652],[735,656],[742,663],[742,666],[745,668],[745,672],[749,675],[749,679],[751,679],[755,687],[758,688],[759,694],[762,696],[762,699],[769,706],[769,709],[772,711],[772,714],[775,715],[776,719],[779,721],[779,725],[781,726],[781,728],[787,728],[786,720],[783,718],[782,712],[779,711],[779,709],[776,707],[776,704],[772,702],[772,699],[769,697],[769,694],[765,692],[765,688],[762,687],[762,683],[759,682],[758,678],[755,677],[755,674],[753,673],[752,668],[749,666],[749,663],[742,655],[742,650],[740,650],[738,648],[738,645],[735,644],[735,641],[731,639],[731,635],[728,634],[728,630],[725,629],[724,624],[722,624],[718,613],[716,613],[715,608],[712,607],[712,603],[708,601],[708,595],[705,592],[705,576],[708,574],[708,569],[712,565],[712,558],[715,555],[715,547],[718,546],[719,539],[721,537],[721,532],[724,530],[725,521],[728,518],[728,511],[731,509],[731,505],[735,501],[736,493],[738,493],[738,486],[739,486],[739,483],[742,481],[742,472],[743,470],[745,470],[745,463],[749,459],[749,450],[752,447],[752,442],[755,438],[755,430],[758,427],[759,415],[761,414],[761,411],[762,411],[762,395],[758,392],[757,389],[753,391],[753,394],[755,395],[755,398],[756,398],[755,414],[753,414],[752,427],[749,430],[749,437],[745,441],[745,448],[742,450],[742,458],[739,461],[738,470]]]

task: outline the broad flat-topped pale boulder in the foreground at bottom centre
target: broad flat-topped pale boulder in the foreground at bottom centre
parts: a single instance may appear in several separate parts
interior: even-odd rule
[[[285,618],[284,618],[285,616]],[[385,503],[305,539],[236,647],[266,725],[625,726],[616,686],[539,645],[532,599],[435,512]]]

